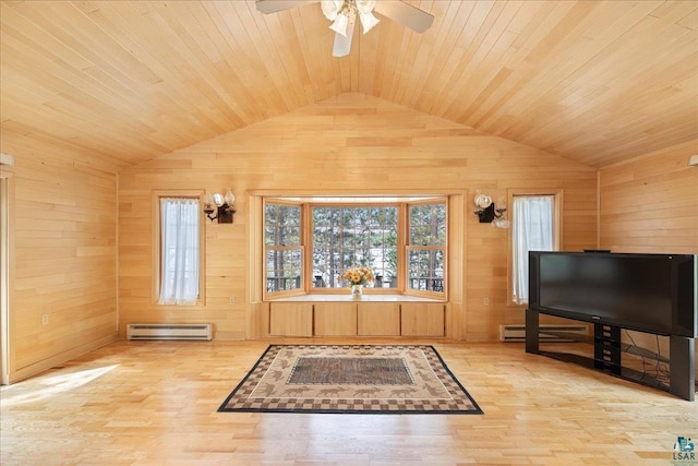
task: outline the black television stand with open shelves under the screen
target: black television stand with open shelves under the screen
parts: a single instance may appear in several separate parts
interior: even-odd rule
[[[664,390],[683,399],[693,402],[696,397],[696,340],[684,336],[670,336],[669,360],[662,359],[659,355],[650,355],[651,351],[642,351],[643,357],[654,357],[654,359],[669,362],[669,385],[655,378],[648,378],[647,374],[630,368],[623,367],[622,355],[629,353],[621,342],[621,330],[615,325],[593,324],[593,358],[571,355],[557,351],[541,351],[539,338],[539,314],[556,315],[554,312],[541,312],[530,309],[526,310],[526,353],[543,355],[566,362],[575,362],[590,369],[595,369],[624,380],[641,383]],[[563,315],[558,315],[563,316]],[[565,318],[568,319],[568,318]]]

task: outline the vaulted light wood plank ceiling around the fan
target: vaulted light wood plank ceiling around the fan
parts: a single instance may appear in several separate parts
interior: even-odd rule
[[[594,167],[698,141],[698,2],[409,2],[338,59],[318,4],[3,0],[0,148],[117,171],[347,92]]]

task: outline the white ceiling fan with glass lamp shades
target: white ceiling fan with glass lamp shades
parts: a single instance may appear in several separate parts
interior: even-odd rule
[[[363,27],[363,34],[381,21],[373,15],[373,12],[397,21],[418,33],[429,29],[434,22],[434,16],[424,10],[399,0],[256,0],[257,10],[265,14],[309,3],[321,3],[323,14],[333,22],[329,28],[336,33],[332,53],[335,57],[344,57],[351,50],[357,16]]]

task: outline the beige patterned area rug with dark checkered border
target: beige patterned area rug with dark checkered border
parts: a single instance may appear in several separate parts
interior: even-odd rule
[[[482,414],[425,345],[272,345],[218,410]]]

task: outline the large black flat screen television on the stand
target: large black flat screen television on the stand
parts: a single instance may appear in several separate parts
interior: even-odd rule
[[[529,252],[529,309],[696,338],[695,254]]]

